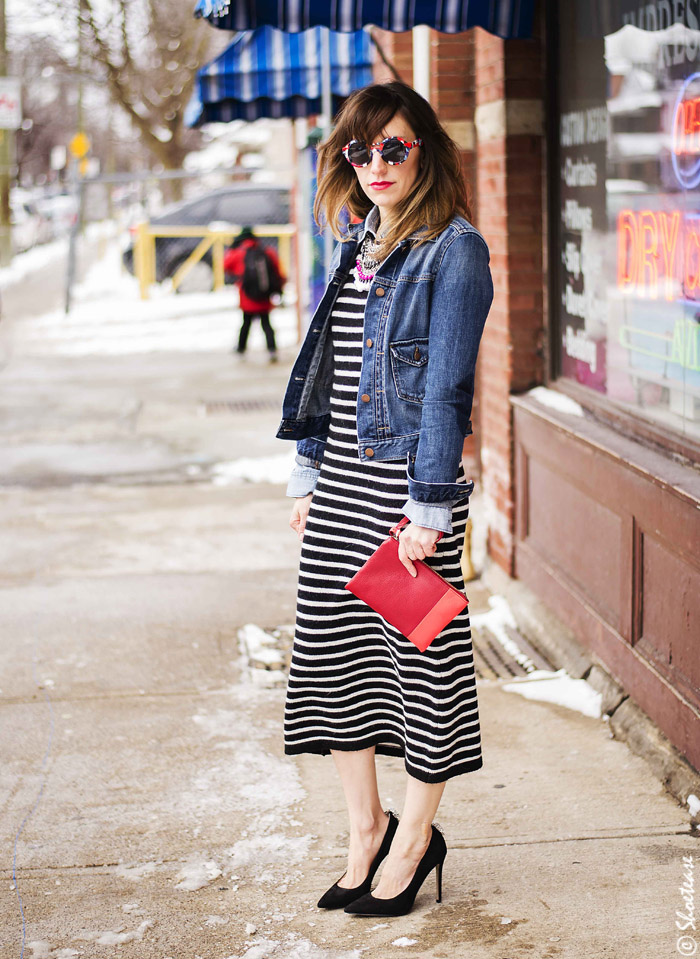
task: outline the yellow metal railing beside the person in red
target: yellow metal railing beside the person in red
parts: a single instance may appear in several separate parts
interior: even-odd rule
[[[211,250],[214,271],[214,289],[221,290],[225,283],[224,250],[231,245],[241,229],[241,226],[235,225],[227,225],[226,229],[219,229],[218,226],[213,229],[207,226],[154,226],[151,223],[139,223],[134,240],[134,274],[139,281],[141,299],[148,299],[149,288],[156,282],[157,238],[201,237],[194,250],[173,274],[173,290],[177,290],[195,263],[198,263],[209,250]],[[289,224],[266,224],[254,226],[253,232],[258,237],[276,236],[278,238],[280,268],[285,276],[289,276],[295,228]]]

